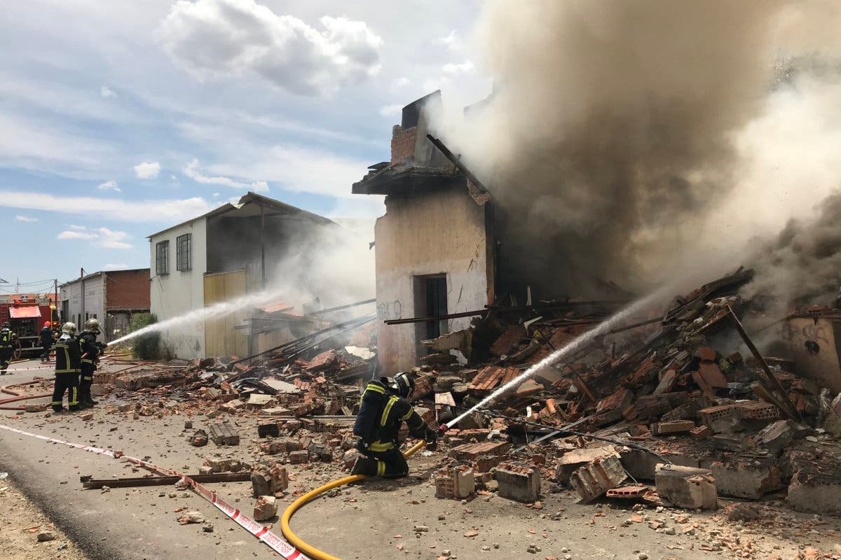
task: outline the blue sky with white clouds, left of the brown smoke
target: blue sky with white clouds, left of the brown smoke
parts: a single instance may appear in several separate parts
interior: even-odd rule
[[[13,3],[0,12],[0,219],[13,239],[0,278],[148,266],[145,236],[250,190],[330,217],[382,214],[350,187],[389,159],[399,107],[438,88],[452,104],[489,92],[479,12]]]

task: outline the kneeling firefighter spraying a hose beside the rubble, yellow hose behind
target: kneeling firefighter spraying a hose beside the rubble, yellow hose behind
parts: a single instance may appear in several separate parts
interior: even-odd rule
[[[405,421],[410,435],[426,439],[435,448],[437,432],[429,427],[406,400],[415,390],[410,374],[371,381],[362,394],[353,433],[362,457],[353,464],[351,474],[400,477],[409,474],[409,464],[400,453],[397,436]]]

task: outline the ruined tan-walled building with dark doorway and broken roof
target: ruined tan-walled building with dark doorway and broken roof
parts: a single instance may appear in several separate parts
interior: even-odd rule
[[[377,313],[383,371],[408,369],[426,353],[422,341],[468,327],[500,301],[513,305],[568,296],[576,273],[563,255],[547,255],[525,234],[521,217],[495,203],[440,140],[431,118],[441,92],[403,108],[391,159],[370,166],[353,194],[385,195],[375,230]],[[619,286],[588,279],[593,293],[627,300]],[[428,320],[407,321],[415,317]]]

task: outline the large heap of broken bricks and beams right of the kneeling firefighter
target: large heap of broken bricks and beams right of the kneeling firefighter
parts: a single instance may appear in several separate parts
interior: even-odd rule
[[[477,487],[493,473],[500,495],[527,495],[510,488],[514,478],[500,467],[514,461],[548,479],[550,489],[571,486],[583,502],[714,509],[717,495],[758,500],[787,489],[796,510],[841,511],[841,449],[822,428],[838,431],[841,399],[830,402],[827,389],[794,374],[791,360],[749,349],[738,317],[751,310],[738,290],[752,276],[738,270],[703,285],[675,298],[664,317],[629,326],[645,327],[643,334],[611,333],[537,371],[447,432],[446,468],[472,469]],[[550,304],[531,316],[489,313],[460,335],[471,342],[468,364],[422,360],[427,365],[415,372],[425,380],[414,398],[437,403],[438,421],[454,418],[593,327],[591,317],[606,314],[596,304],[580,312]],[[553,306],[560,317],[547,309]],[[426,344],[464,348],[446,337]],[[743,344],[748,351],[733,351]],[[530,443],[548,435],[556,438]]]

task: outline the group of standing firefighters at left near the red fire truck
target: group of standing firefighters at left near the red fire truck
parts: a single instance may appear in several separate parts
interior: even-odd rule
[[[82,408],[97,405],[91,395],[93,372],[97,369],[99,356],[105,346],[97,342],[99,335],[99,321],[88,319],[85,330],[77,335],[75,323],[66,322],[61,327],[61,333],[52,329],[50,322],[44,323],[40,332],[40,343],[43,348],[41,362],[50,358],[50,347],[56,351],[56,382],[53,389],[53,411],[62,412],[64,395],[67,395],[67,409],[75,412]],[[17,335],[12,331],[8,322],[0,328],[0,374],[6,374],[8,364],[14,355]]]

